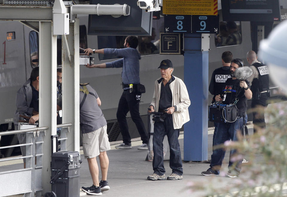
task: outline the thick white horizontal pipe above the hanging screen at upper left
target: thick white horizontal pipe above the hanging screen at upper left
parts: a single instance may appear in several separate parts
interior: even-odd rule
[[[97,14],[100,15],[123,15],[130,14],[130,6],[123,5],[72,5],[71,14]]]

